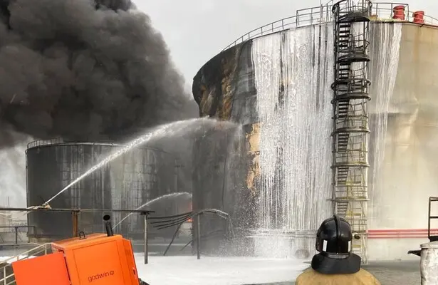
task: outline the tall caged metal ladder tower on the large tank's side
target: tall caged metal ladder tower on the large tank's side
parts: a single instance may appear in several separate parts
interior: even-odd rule
[[[333,211],[360,239],[353,252],[367,263],[368,36],[371,2],[343,0],[333,5]],[[354,28],[353,28],[354,25]]]

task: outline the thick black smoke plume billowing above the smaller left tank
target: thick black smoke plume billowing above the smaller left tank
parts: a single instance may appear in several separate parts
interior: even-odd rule
[[[196,114],[161,34],[128,0],[0,0],[0,19],[1,144],[14,143],[7,130],[121,140]]]

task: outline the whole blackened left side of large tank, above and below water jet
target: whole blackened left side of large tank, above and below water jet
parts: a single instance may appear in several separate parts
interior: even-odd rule
[[[246,42],[212,58],[194,77],[193,93],[200,116],[232,120],[243,125],[194,143],[194,210],[215,208],[230,214],[235,229],[254,227],[252,187],[247,187],[248,169],[254,152],[244,138],[254,134],[256,100],[251,61],[251,42]],[[250,178],[252,179],[252,178]],[[195,223],[196,225],[196,223]],[[226,222],[212,214],[202,216],[203,250],[219,249]],[[194,227],[196,234],[196,227]]]

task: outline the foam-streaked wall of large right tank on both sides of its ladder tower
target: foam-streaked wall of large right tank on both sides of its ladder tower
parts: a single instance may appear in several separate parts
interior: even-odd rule
[[[251,126],[245,129],[249,163],[240,191],[251,197],[247,201],[255,207],[235,219],[251,221],[246,225],[249,229],[268,225],[267,233],[278,231],[277,235],[290,238],[291,244],[298,244],[291,252],[302,255],[311,254],[316,229],[332,214],[331,25],[291,28],[228,48],[208,61],[193,83],[201,115]],[[438,184],[433,56],[438,49],[437,33],[437,27],[409,22],[370,24],[370,171],[368,177],[360,177],[367,180],[369,202],[363,199],[354,204],[367,213],[370,238],[364,239],[364,248],[369,260],[409,258],[404,248],[412,242],[419,244],[420,237],[408,239],[406,234],[394,239],[393,233],[427,229],[424,203],[434,196]],[[278,147],[281,144],[286,147]],[[269,161],[269,156],[283,158]],[[284,175],[286,180],[281,178]],[[276,187],[284,191],[273,193],[270,189]],[[201,190],[195,187],[194,199],[198,199],[197,191]],[[222,185],[209,191],[224,192]],[[209,204],[212,197],[217,196],[199,199]],[[239,207],[234,202],[231,205]],[[273,217],[254,219],[260,212]],[[281,229],[285,223],[288,226]],[[373,234],[384,229],[390,229],[385,236]],[[284,247],[276,251],[269,243],[266,238],[258,247],[268,254],[279,252],[276,256],[286,252]]]

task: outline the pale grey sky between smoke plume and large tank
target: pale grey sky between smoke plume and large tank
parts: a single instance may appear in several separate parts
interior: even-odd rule
[[[296,9],[320,4],[319,0],[133,1],[150,16],[152,25],[164,36],[174,63],[189,86],[199,68],[239,36],[272,21],[293,16]],[[437,0],[405,3],[410,4],[411,11],[421,9],[426,15],[438,18]]]

